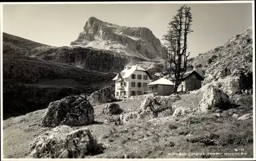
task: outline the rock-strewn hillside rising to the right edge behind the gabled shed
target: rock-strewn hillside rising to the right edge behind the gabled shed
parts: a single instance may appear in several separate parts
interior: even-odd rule
[[[223,45],[199,54],[188,64],[205,71],[205,75],[214,75],[215,71],[224,68],[228,68],[231,73],[238,68],[252,71],[252,28],[248,28],[243,33],[232,37]],[[223,74],[221,75],[227,76],[229,72]],[[206,83],[209,82],[204,84]]]

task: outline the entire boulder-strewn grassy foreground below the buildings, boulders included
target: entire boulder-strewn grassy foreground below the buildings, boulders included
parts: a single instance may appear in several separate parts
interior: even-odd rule
[[[249,93],[229,97],[212,84],[203,93],[142,95],[118,102],[111,93],[109,87],[89,97],[69,96],[47,109],[5,120],[5,157],[179,158],[169,151],[180,150],[202,153],[183,158],[252,157]],[[246,147],[246,154],[207,154],[233,147]]]

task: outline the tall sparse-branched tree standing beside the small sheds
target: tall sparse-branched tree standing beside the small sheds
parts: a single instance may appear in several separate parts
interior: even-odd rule
[[[165,69],[175,86],[173,93],[177,93],[178,86],[181,84],[181,78],[186,72],[187,67],[187,34],[193,32],[190,27],[193,22],[190,7],[181,6],[173,20],[168,23],[167,34],[163,35],[166,40],[165,49]]]

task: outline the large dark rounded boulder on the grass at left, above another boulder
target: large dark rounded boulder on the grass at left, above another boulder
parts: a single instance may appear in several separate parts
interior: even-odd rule
[[[56,127],[59,125],[82,126],[94,122],[94,109],[82,96],[69,96],[51,102],[42,118],[42,125]]]

